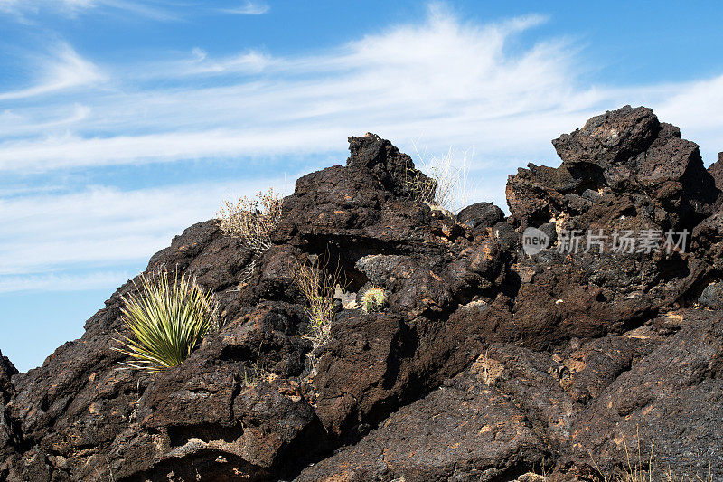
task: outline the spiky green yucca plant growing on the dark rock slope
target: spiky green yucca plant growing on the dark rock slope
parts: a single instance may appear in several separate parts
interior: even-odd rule
[[[123,297],[123,321],[130,336],[120,335],[114,349],[130,357],[130,368],[162,372],[182,364],[211,326],[218,326],[219,308],[213,293],[183,273],[169,279],[141,275],[138,295]]]

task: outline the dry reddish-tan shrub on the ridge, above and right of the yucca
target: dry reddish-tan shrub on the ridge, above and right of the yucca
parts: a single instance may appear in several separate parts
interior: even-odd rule
[[[281,221],[281,196],[269,189],[255,198],[244,196],[236,203],[225,201],[216,218],[221,232],[261,254],[271,247],[271,232]]]

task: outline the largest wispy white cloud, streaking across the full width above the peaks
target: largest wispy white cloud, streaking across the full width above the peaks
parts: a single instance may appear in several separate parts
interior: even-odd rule
[[[506,158],[513,170],[531,157],[549,159],[549,139],[626,103],[651,104],[673,123],[684,119],[690,136],[702,134],[708,156],[718,147],[717,132],[702,128],[723,118],[715,97],[723,80],[586,87],[569,43],[508,52],[514,35],[543,21],[532,15],[478,26],[437,10],[425,24],[322,54],[249,51],[218,59],[199,48],[188,61],[106,66],[112,83],[72,92],[70,86],[95,85],[105,74],[66,51],[50,80],[0,94],[9,101],[65,89],[46,95],[42,110],[9,104],[13,137],[0,133],[0,170],[341,151],[347,136],[366,131],[403,147],[420,135],[431,149],[474,147],[478,158]],[[686,91],[698,92],[696,116],[686,113]]]

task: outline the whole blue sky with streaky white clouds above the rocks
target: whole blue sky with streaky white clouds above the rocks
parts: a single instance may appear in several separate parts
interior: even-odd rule
[[[511,5],[513,4],[513,5]],[[557,165],[549,140],[649,105],[723,150],[717,2],[0,0],[0,350],[82,334],[224,198],[371,131],[467,154],[470,202]],[[455,160],[456,160],[455,157]]]

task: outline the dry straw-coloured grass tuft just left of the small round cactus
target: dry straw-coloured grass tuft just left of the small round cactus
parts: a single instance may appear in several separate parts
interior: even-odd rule
[[[317,348],[326,345],[333,321],[334,288],[339,284],[340,271],[328,271],[326,263],[317,258],[311,264],[296,263],[296,286],[306,299],[306,317],[309,319],[309,332],[305,338],[311,340],[313,349],[307,354],[312,366],[312,374],[316,371]]]

